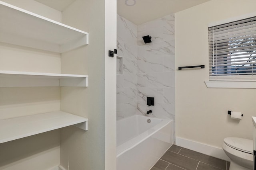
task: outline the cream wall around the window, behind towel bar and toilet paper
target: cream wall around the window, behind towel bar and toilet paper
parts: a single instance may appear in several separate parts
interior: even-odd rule
[[[252,139],[256,89],[207,88],[208,23],[256,11],[255,0],[211,0],[175,14],[176,137],[221,148],[225,137]],[[204,69],[178,66],[205,64]],[[242,111],[241,121],[227,111]]]

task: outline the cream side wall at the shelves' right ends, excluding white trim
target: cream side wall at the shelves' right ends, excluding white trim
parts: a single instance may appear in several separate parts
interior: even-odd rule
[[[75,1],[62,12],[62,21],[89,33],[86,47],[62,53],[61,60],[62,73],[88,74],[89,86],[62,87],[61,109],[89,121],[86,132],[62,128],[60,164],[66,169],[104,169],[104,2]]]

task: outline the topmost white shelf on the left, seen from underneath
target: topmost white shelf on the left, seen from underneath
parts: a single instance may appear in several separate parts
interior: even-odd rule
[[[88,33],[0,1],[0,41],[63,53],[88,44]]]

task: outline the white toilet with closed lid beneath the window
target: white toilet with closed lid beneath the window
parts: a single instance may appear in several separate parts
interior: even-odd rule
[[[253,170],[252,140],[227,137],[222,148],[231,160],[229,170]]]

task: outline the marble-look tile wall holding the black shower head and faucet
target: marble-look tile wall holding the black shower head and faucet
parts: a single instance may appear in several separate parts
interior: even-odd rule
[[[146,35],[152,43],[144,43],[142,36]],[[174,14],[138,25],[137,114],[146,115],[151,109],[148,116],[175,123],[174,38]],[[155,106],[147,106],[146,97],[154,97]]]

